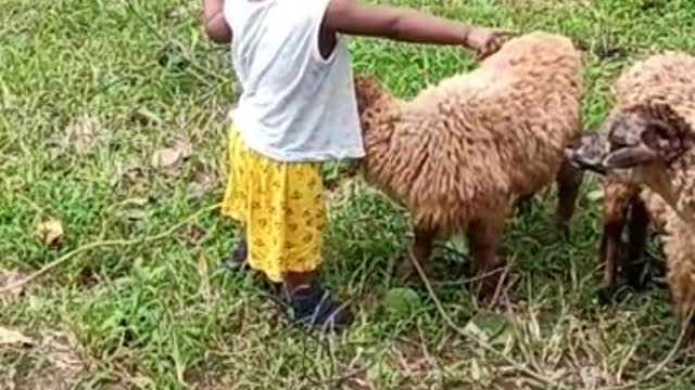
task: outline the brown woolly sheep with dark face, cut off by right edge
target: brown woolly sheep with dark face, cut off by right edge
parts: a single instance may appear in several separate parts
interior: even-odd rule
[[[616,96],[602,129],[566,155],[644,185],[668,205],[660,218],[667,282],[693,341],[695,328],[685,320],[695,303],[695,57],[666,53],[642,61],[619,78]]]

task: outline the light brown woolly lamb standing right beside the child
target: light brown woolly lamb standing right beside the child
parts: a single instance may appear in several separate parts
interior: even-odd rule
[[[567,232],[582,182],[582,171],[563,162],[564,147],[581,135],[581,54],[568,38],[517,37],[410,101],[365,75],[355,90],[365,178],[410,211],[420,264],[435,236],[466,231],[478,295],[489,298],[501,282],[497,245],[510,205],[554,180],[556,223]],[[400,275],[413,272],[404,260]]]

